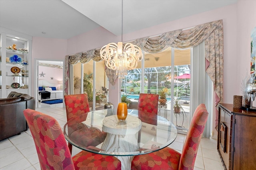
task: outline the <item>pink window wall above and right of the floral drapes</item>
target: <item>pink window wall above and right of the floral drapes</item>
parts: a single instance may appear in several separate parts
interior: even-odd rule
[[[164,32],[184,29],[215,20],[223,20],[224,24],[224,102],[232,103],[233,95],[239,95],[234,94],[234,92],[237,92],[237,90],[234,90],[235,88],[233,87],[234,85],[232,84],[232,81],[228,80],[228,77],[231,77],[230,74],[233,73],[234,66],[237,65],[237,60],[234,60],[234,57],[237,56],[237,4],[129,33],[124,35],[123,41],[131,41],[137,38],[159,35]],[[69,39],[67,51],[68,54],[74,54],[93,48],[100,48],[111,41],[120,41],[120,37],[116,37],[108,31],[98,28],[94,31],[90,31],[90,33],[84,33]],[[240,87],[240,83],[237,85]],[[111,94],[118,93],[118,85],[116,85],[116,87],[110,86],[109,89],[111,89],[109,101],[111,101],[114,106],[117,106],[118,98],[116,98],[116,95],[112,96]]]

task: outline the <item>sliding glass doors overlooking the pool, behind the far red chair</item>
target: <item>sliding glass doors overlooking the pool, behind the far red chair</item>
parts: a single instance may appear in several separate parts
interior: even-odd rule
[[[144,52],[144,61],[129,70],[122,82],[122,93],[133,102],[138,101],[140,93],[160,94],[161,90],[166,90],[167,102],[159,104],[158,114],[165,117],[167,113],[168,120],[186,131],[190,124],[190,49]],[[175,101],[182,107],[180,111],[174,111]]]

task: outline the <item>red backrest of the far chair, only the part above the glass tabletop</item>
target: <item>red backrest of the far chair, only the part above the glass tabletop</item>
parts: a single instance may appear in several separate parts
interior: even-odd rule
[[[159,98],[158,94],[141,93],[138,101],[138,110],[157,114],[158,98]]]

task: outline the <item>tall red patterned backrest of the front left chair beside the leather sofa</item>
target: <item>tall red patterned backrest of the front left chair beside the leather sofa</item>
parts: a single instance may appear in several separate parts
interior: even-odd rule
[[[74,170],[74,163],[58,121],[32,109],[25,109],[23,112],[36,145],[41,169]]]

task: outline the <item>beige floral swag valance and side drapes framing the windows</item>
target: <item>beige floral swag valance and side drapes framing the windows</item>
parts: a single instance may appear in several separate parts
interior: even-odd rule
[[[167,47],[190,48],[205,41],[206,72],[210,76],[216,93],[216,105],[222,101],[223,96],[223,23],[222,20],[197,25],[192,29],[175,30],[163,33],[157,38],[136,39],[132,43],[138,45],[148,53],[158,53]],[[83,53],[66,56],[69,64],[78,61],[86,63],[91,59],[100,61],[100,50],[90,50]],[[65,67],[66,68],[66,67]],[[66,70],[66,73],[68,70]],[[112,85],[118,77],[115,70],[105,68],[106,75]],[[68,76],[68,74],[66,74]],[[66,81],[66,78],[65,78]],[[65,82],[66,83],[66,82]]]

